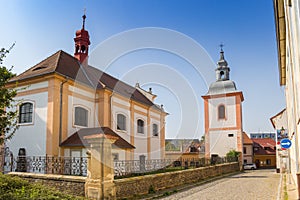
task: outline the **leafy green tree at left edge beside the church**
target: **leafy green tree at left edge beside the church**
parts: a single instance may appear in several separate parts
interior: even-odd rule
[[[0,144],[3,144],[6,139],[10,139],[18,128],[18,111],[16,109],[16,101],[14,100],[17,90],[6,87],[8,81],[15,74],[12,73],[12,67],[8,69],[2,66],[7,53],[9,53],[9,50],[4,48],[0,50]]]

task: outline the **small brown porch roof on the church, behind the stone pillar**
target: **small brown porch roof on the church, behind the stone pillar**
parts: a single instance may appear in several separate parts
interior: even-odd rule
[[[73,133],[70,137],[68,137],[65,141],[61,143],[62,147],[88,147],[89,144],[86,140],[86,136],[95,136],[95,135],[103,135],[110,138],[118,138],[114,145],[121,149],[134,149],[135,147],[124,140],[121,136],[115,133],[108,127],[96,127],[96,128],[82,128],[75,133]]]

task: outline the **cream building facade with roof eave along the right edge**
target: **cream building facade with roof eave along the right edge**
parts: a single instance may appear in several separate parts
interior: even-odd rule
[[[286,114],[289,138],[290,167],[293,180],[297,183],[300,172],[300,1],[273,0],[280,85],[285,86]],[[293,137],[292,137],[293,136]],[[297,183],[298,188],[300,183]],[[299,193],[299,189],[298,189]],[[299,195],[300,197],[300,195]]]

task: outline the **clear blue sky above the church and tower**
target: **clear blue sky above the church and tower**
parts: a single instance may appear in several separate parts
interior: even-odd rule
[[[92,43],[91,62],[132,85],[140,82],[145,88],[152,87],[158,95],[156,102],[164,104],[170,113],[167,138],[198,138],[203,134],[201,95],[214,81],[207,77],[214,77],[221,42],[225,44],[230,77],[244,94],[244,130],[274,131],[269,118],[281,111],[285,102],[284,89],[279,86],[271,0],[2,1],[0,47],[9,48],[16,42],[4,64],[21,73],[60,49],[72,55],[84,8]],[[186,41],[174,41],[183,49],[193,49],[187,46],[191,41],[201,47],[199,55],[204,57],[199,57],[205,60],[202,68],[197,70],[184,56],[161,48],[131,51],[115,58],[109,67],[96,66],[95,57],[105,41],[149,27],[184,36]],[[158,75],[150,76],[149,69],[158,70]],[[190,105],[186,98],[193,98]]]

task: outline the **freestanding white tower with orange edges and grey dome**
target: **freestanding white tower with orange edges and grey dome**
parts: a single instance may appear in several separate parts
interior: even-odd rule
[[[230,150],[243,153],[243,93],[230,80],[230,68],[221,48],[216,68],[204,99],[205,157],[226,156]]]

